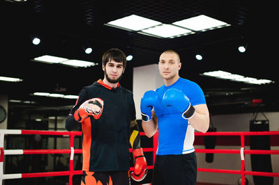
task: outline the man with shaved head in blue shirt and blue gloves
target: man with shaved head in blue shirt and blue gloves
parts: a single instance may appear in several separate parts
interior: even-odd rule
[[[165,84],[146,91],[140,105],[146,136],[153,136],[157,129],[159,133],[152,185],[194,185],[194,132],[209,129],[204,93],[197,83],[179,77],[181,61],[176,51],[164,51],[158,68]]]

